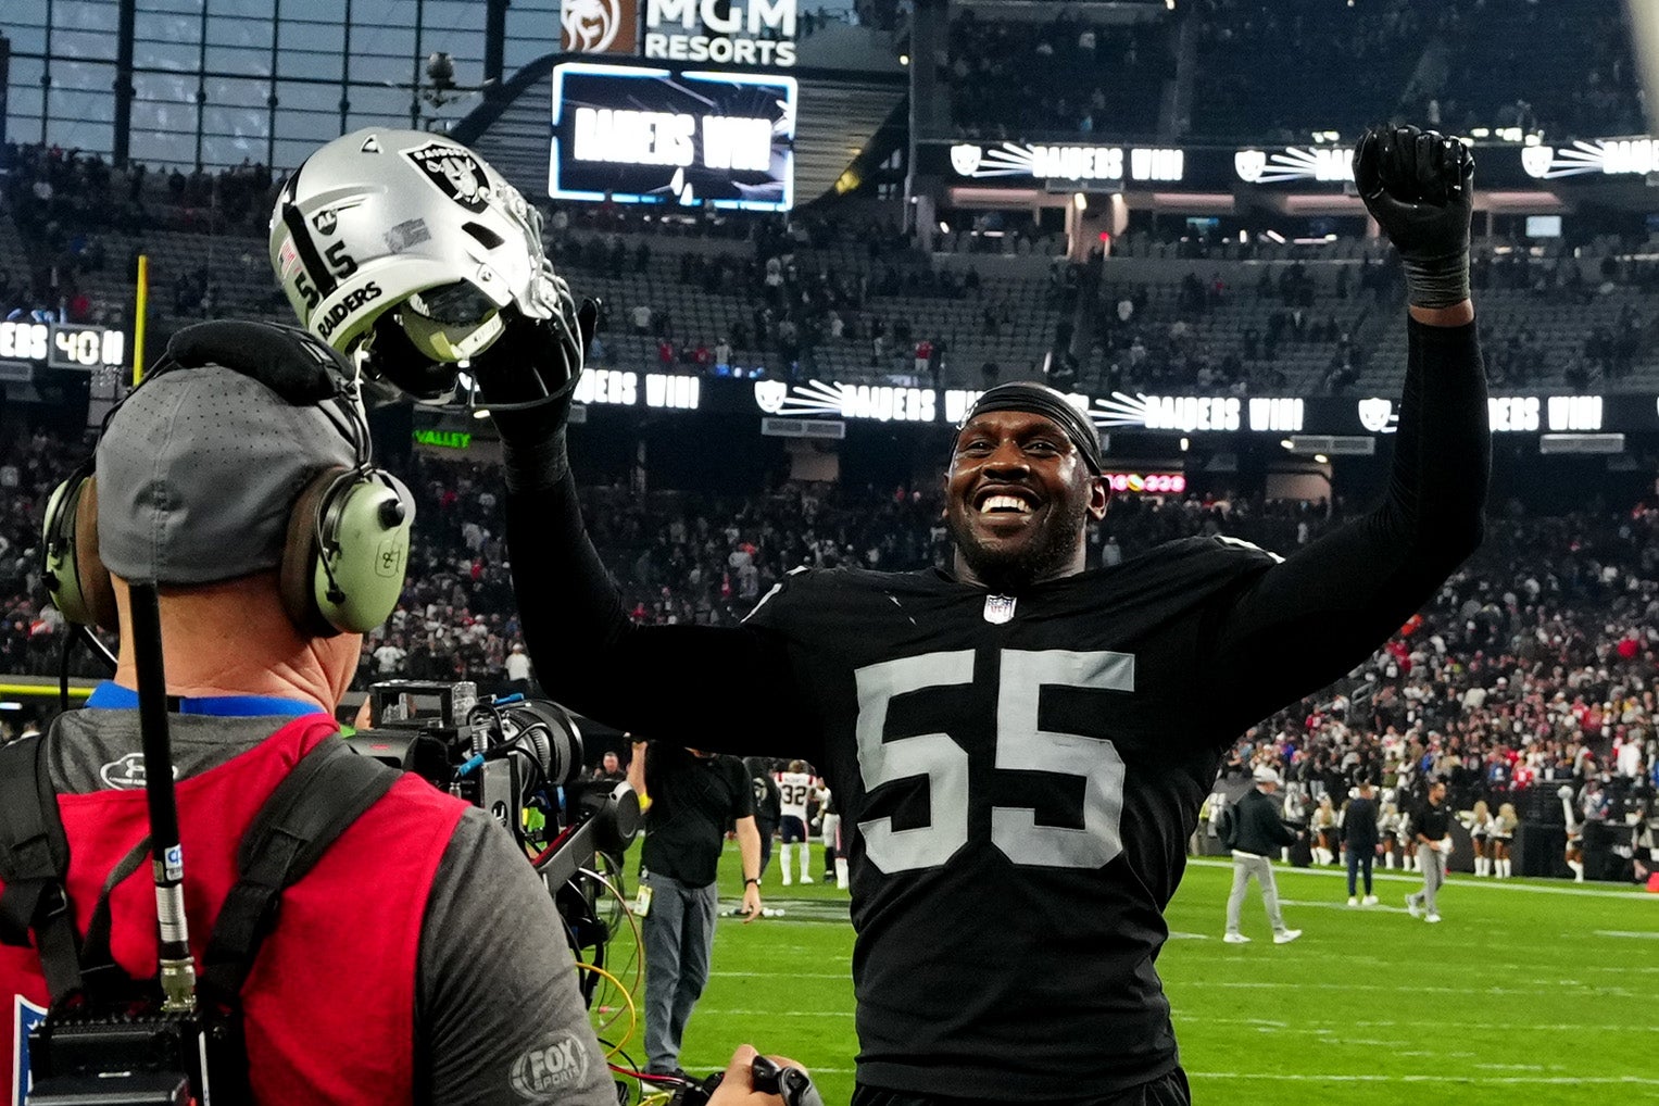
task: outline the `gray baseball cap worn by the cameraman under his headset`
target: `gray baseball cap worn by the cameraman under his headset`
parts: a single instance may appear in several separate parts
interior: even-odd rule
[[[357,464],[347,418],[221,365],[148,380],[98,441],[101,560],[156,584],[275,569],[305,484]]]

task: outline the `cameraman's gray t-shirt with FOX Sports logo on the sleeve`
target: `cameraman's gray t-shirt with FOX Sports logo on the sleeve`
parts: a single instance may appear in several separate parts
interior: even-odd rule
[[[178,778],[187,779],[290,720],[168,721]],[[139,751],[136,710],[71,711],[48,748],[51,783],[60,794],[111,789],[105,769]],[[124,783],[119,769],[108,776]],[[615,1104],[552,897],[483,811],[461,816],[433,876],[411,1013],[423,1106]]]

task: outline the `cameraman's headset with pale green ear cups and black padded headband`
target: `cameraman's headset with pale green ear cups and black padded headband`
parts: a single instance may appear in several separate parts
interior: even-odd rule
[[[209,322],[173,335],[144,381],[207,365],[251,376],[297,406],[328,405],[324,410],[352,444],[355,463],[315,473],[294,501],[279,569],[282,604],[310,637],[365,633],[382,625],[403,594],[415,511],[403,484],[372,464],[352,365],[297,327]],[[105,416],[105,428],[118,410]],[[43,577],[65,618],[116,630],[114,589],[98,557],[93,466],[95,459],[85,461],[46,501]]]

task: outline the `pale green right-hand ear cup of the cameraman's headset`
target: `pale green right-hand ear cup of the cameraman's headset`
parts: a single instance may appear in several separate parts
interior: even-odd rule
[[[392,615],[415,524],[413,501],[397,479],[378,469],[348,479],[342,473],[324,473],[300,492],[282,557],[284,604],[299,615],[295,625],[317,637],[367,633]]]

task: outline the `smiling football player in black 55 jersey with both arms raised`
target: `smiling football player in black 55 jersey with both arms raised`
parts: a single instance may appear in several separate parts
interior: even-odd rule
[[[1190,1099],[1155,965],[1223,754],[1369,657],[1480,544],[1472,174],[1432,131],[1359,143],[1360,196],[1407,277],[1394,471],[1380,504],[1291,560],[1193,537],[1085,570],[1107,512],[1100,438],[1060,393],[1012,383],[956,436],[949,570],[801,569],[742,627],[635,625],[582,527],[567,403],[496,401],[549,360],[579,371],[579,347],[521,342],[509,322],[514,357],[473,361],[547,691],[647,735],[680,733],[695,703],[700,741],[806,753],[834,788],[854,1106]]]

